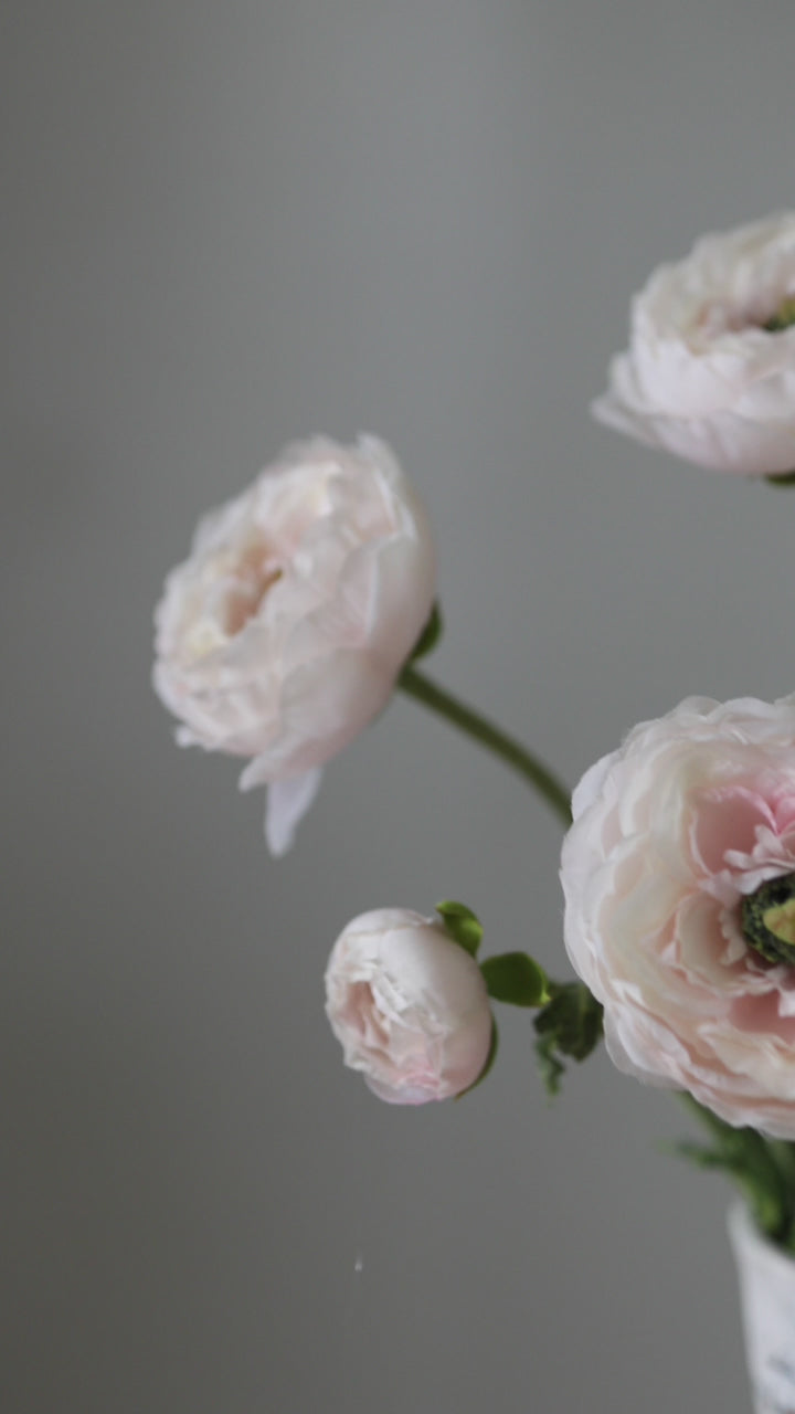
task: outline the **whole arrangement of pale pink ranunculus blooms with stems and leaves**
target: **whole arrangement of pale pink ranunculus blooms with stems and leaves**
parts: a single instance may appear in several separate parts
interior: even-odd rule
[[[795,215],[706,236],[632,304],[596,417],[699,465],[795,481]],[[689,697],[629,730],[573,795],[419,666],[441,632],[431,532],[392,451],[287,448],[207,516],[156,614],[154,687],[181,745],[245,759],[266,839],[294,841],[323,768],[396,690],[522,773],[566,829],[564,946],[480,959],[468,905],[356,916],[325,974],[345,1063],[396,1104],[460,1096],[497,1053],[494,1004],[533,1012],[550,1092],[604,1036],[680,1092],[755,1227],[795,1253],[795,694]]]

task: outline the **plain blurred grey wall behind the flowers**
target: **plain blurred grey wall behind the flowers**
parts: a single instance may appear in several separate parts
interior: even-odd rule
[[[655,263],[792,202],[794,38],[791,0],[3,7],[4,1410],[747,1411],[671,1096],[600,1056],[549,1109],[516,1012],[396,1110],[323,1015],[382,904],[563,973],[553,816],[400,700],[274,864],[150,622],[202,510],[364,428],[437,527],[434,673],[571,781],[792,689],[792,496],[587,404]]]

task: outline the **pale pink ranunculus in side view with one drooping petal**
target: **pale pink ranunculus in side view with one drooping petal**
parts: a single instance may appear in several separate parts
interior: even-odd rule
[[[274,854],[386,706],[434,587],[424,508],[375,437],[290,445],[201,520],[156,611],[154,687],[181,745],[250,758]]]

